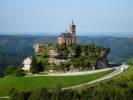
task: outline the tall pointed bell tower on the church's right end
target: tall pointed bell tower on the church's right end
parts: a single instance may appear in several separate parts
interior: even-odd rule
[[[73,43],[76,43],[76,25],[74,24],[73,20],[72,23],[69,25],[69,31],[73,36]]]

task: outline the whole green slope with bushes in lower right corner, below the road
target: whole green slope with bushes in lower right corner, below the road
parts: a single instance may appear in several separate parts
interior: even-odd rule
[[[120,75],[77,90],[89,100],[133,100],[133,66]]]

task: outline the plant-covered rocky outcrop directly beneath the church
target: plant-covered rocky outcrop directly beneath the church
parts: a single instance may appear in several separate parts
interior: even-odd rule
[[[59,60],[65,60],[58,63],[57,66],[64,66],[64,69],[70,70],[70,66],[74,68],[82,67],[83,70],[102,69],[108,67],[107,55],[109,48],[97,46],[96,44],[76,44],[76,45],[48,45],[44,46],[43,53],[51,54],[51,51],[57,51],[55,56],[50,56],[49,62],[56,64]],[[49,53],[48,53],[49,52]],[[53,55],[53,53],[52,53]],[[48,57],[49,56],[45,56]]]

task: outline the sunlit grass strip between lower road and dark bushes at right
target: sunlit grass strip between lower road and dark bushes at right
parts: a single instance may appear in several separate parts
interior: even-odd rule
[[[100,87],[100,85],[108,85],[112,88],[117,88],[121,90],[121,85],[127,85],[127,88],[133,87],[133,66],[130,66],[126,71],[123,73],[112,77],[110,79],[104,80],[102,82],[97,82],[95,84],[88,85],[88,88],[91,87]],[[78,88],[79,91],[86,89],[87,87]],[[123,90],[126,90],[127,88],[124,88]]]

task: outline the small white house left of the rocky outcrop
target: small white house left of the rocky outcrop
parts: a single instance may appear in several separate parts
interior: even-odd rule
[[[27,57],[27,58],[24,59],[24,61],[23,61],[24,67],[22,67],[22,69],[25,70],[25,71],[29,71],[30,68],[31,68],[31,64],[32,64],[32,58]]]

